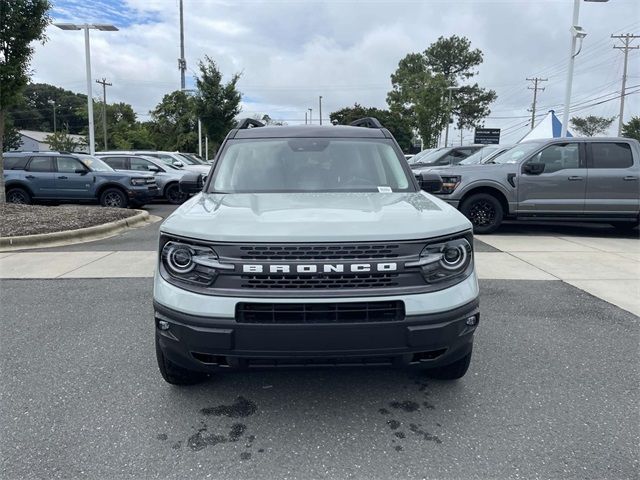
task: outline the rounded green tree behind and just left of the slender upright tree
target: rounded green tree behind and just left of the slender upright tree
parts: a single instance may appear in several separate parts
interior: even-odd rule
[[[151,111],[151,133],[162,150],[198,150],[196,99],[184,91],[168,93]]]

